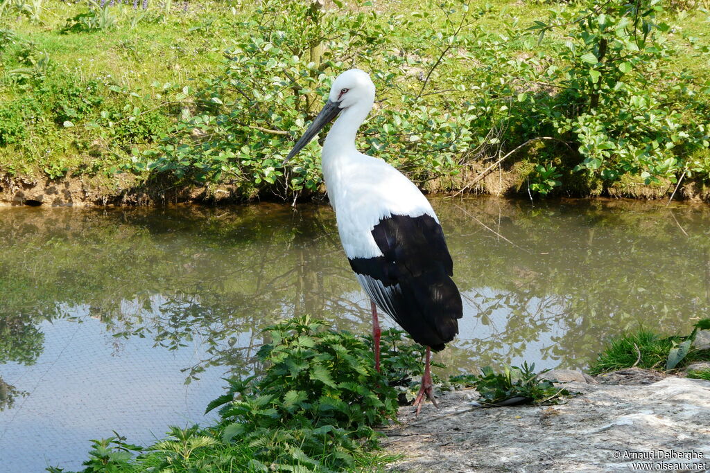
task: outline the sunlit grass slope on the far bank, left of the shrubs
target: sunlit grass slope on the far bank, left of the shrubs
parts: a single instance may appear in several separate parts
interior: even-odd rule
[[[222,20],[231,11],[208,1],[190,5],[187,13],[176,8],[168,15],[157,8],[133,11],[119,5],[110,9],[116,28],[68,34],[60,29],[67,18],[86,11],[86,3],[45,1],[40,21],[6,14],[2,29],[13,38],[0,42],[0,70],[5,71],[0,78],[0,108],[26,98],[43,111],[22,117],[32,126],[16,143],[4,147],[0,172],[28,177],[104,174],[111,180],[111,168],[129,159],[132,148],[145,148],[174,120],[175,111],[162,106],[170,100],[164,84],[171,84],[168,91],[180,90],[198,77],[209,76],[222,60],[230,24]],[[138,14],[143,19],[131,28]],[[217,20],[212,28],[204,29],[206,18]],[[28,71],[28,77],[19,76],[18,70]],[[58,120],[52,110],[52,102],[58,100],[55,92],[40,97],[33,90],[38,81],[51,89],[67,80],[82,89],[97,83],[101,104],[80,120],[94,125],[63,126],[64,120]],[[143,127],[146,133],[131,135],[115,128],[112,123],[121,120],[128,125],[135,108],[158,110],[160,119],[155,126]],[[110,113],[109,119],[102,121],[102,111]]]

